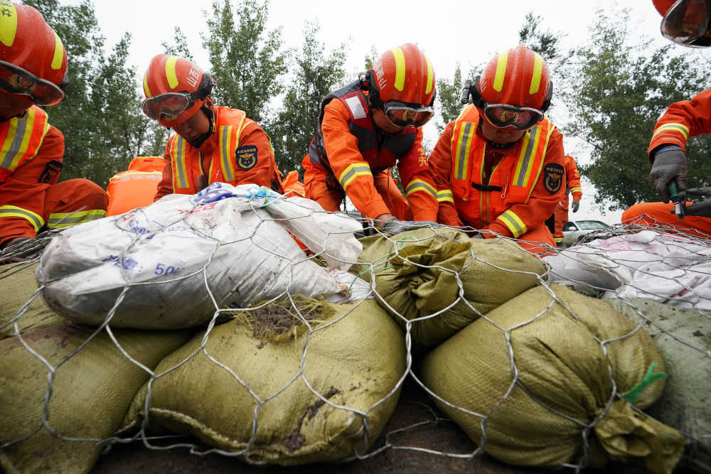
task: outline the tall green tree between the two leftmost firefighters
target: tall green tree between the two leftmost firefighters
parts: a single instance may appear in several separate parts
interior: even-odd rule
[[[139,80],[126,65],[131,37],[126,34],[107,55],[89,0],[26,3],[43,14],[67,50],[66,99],[47,109],[50,123],[65,136],[61,178],[87,178],[106,186],[135,156],[156,154],[151,143],[164,133],[141,112]]]

